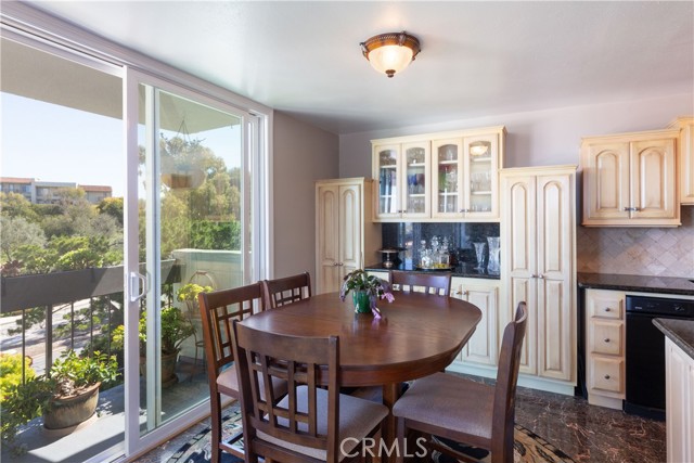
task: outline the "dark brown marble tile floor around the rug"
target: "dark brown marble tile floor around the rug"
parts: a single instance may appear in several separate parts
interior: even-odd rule
[[[665,423],[588,404],[567,397],[518,387],[516,423],[542,436],[577,463],[658,463],[666,460]],[[192,436],[203,421],[137,460],[164,463]]]

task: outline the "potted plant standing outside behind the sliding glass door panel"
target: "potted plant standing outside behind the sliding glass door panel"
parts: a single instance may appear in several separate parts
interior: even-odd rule
[[[162,322],[162,386],[167,387],[178,382],[176,376],[176,361],[181,350],[181,344],[193,335],[195,329],[178,307],[165,307],[160,313]],[[123,349],[125,327],[117,326],[112,334],[113,347]],[[146,312],[142,311],[139,322],[140,368],[144,373],[144,352],[147,340]]]

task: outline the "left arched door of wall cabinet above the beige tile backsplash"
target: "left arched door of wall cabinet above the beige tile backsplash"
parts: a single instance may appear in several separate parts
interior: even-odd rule
[[[629,218],[629,143],[583,150],[583,219]]]

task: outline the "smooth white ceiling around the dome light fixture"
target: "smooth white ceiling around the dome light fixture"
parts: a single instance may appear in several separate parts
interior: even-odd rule
[[[335,133],[694,92],[692,1],[28,3]],[[399,30],[388,79],[359,42]]]

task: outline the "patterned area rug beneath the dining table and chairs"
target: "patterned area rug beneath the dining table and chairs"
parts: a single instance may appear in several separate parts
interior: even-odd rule
[[[228,439],[241,429],[241,414],[237,406],[228,408],[222,415],[222,433],[223,438]],[[197,433],[193,438],[185,442],[176,453],[174,453],[167,463],[208,463],[211,461],[210,446],[211,428],[208,426]],[[517,425],[515,426],[515,446],[514,446],[514,463],[575,463],[570,456],[562,452],[556,447],[542,439],[529,429]],[[489,461],[489,452],[475,449],[461,443],[452,442],[446,439],[437,439],[439,443],[453,447],[461,450],[472,458],[480,462]],[[243,443],[239,449],[243,451]],[[432,459],[436,463],[455,463],[455,460],[434,452]],[[222,463],[240,463],[240,460],[229,453],[222,452]]]

